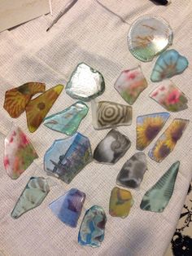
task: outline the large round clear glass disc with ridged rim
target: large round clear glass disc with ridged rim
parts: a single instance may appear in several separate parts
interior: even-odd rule
[[[154,15],[144,15],[129,29],[129,51],[138,60],[151,61],[172,45],[172,38],[172,29],[167,21]]]

